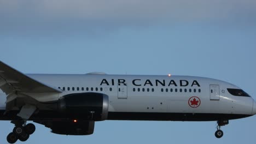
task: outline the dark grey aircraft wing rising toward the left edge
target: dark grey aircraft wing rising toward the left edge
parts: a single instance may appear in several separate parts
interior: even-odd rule
[[[0,88],[5,94],[14,91],[24,93],[61,93],[60,89],[45,85],[42,82],[22,74],[0,61]]]

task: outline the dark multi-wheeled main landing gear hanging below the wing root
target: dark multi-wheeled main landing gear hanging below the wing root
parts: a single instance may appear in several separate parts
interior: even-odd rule
[[[12,122],[15,124],[13,132],[7,136],[9,143],[15,143],[17,140],[26,141],[34,133],[36,127],[32,123]]]

